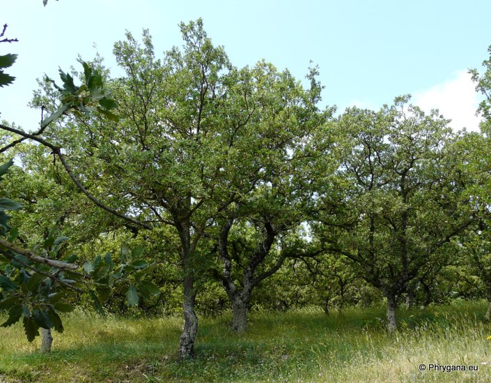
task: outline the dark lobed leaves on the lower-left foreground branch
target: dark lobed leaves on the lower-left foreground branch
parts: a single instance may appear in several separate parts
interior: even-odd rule
[[[53,234],[54,232],[50,234],[38,251],[45,250],[47,254],[56,258],[59,246],[65,241],[65,238],[53,239]],[[133,253],[141,255],[141,250]],[[74,308],[72,304],[67,303],[68,300],[71,300],[70,294],[72,293],[72,290],[67,287],[77,287],[77,291],[81,287],[88,290],[93,298],[94,307],[102,315],[104,315],[102,304],[107,300],[116,283],[130,284],[127,292],[128,306],[135,306],[138,303],[137,288],[145,299],[149,299],[150,296],[158,296],[160,292],[154,283],[145,279],[153,268],[142,260],[132,260],[131,263],[123,263],[115,268],[111,255],[106,253],[104,257],[98,255],[92,262],[86,262],[84,264],[86,273],[81,274],[59,270],[56,267],[36,265],[22,255],[17,255],[16,259],[19,262],[11,262],[14,267],[8,269],[8,275],[0,275],[0,287],[6,294],[5,299],[0,301],[0,310],[10,308],[8,320],[1,326],[10,326],[22,319],[29,341],[39,335],[40,327],[63,331],[59,314],[68,313]],[[65,257],[64,260],[73,262],[76,259],[76,257]],[[35,271],[37,269],[39,272]],[[50,278],[50,276],[56,276],[56,278]]]

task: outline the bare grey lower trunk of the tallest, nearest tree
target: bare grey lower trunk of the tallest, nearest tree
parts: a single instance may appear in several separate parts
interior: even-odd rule
[[[193,285],[193,276],[187,276],[184,279],[184,329],[182,329],[179,340],[179,359],[186,359],[194,354],[194,340],[198,332],[198,317],[196,317],[194,312],[196,292]]]

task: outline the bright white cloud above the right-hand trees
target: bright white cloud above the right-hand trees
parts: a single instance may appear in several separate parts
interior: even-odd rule
[[[453,130],[479,130],[481,119],[476,117],[476,110],[480,98],[467,70],[455,73],[450,80],[430,89],[412,93],[411,101],[425,112],[438,109],[446,119],[452,120],[450,126]]]

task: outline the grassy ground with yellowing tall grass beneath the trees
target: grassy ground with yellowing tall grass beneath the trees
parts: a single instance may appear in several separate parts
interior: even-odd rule
[[[230,317],[200,321],[196,357],[176,360],[180,318],[124,319],[72,313],[54,351],[38,352],[17,324],[0,329],[0,382],[491,382],[491,324],[485,303],[399,310],[254,313],[235,334]],[[477,372],[429,370],[477,366]],[[424,364],[426,371],[420,371]]]

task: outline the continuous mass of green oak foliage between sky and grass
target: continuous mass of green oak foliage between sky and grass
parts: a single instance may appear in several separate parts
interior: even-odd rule
[[[114,46],[121,77],[98,57],[80,73],[60,69],[61,84],[40,83],[33,106],[50,114],[31,138],[50,149],[19,144],[25,172],[0,195],[0,234],[22,246],[0,248],[2,326],[22,322],[29,340],[40,327],[61,332],[61,315],[88,296],[100,314],[121,303],[176,313],[184,294],[214,315],[256,285],[249,306],[326,312],[380,294],[425,304],[481,294],[491,276],[489,60],[472,71],[486,96],[483,134],[453,134],[409,96],[332,119],[334,108],[318,107],[318,68],[304,88],[265,61],[236,68],[201,20],[180,30],[182,48],[161,58],[148,31],[127,33]],[[15,59],[0,56],[0,86]],[[51,158],[61,148],[77,186]]]

